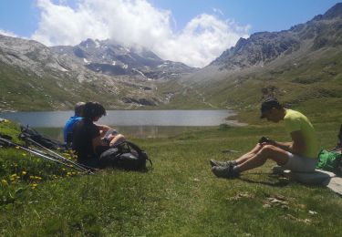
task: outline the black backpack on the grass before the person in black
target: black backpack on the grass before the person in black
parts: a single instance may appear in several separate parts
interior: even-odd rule
[[[125,140],[102,152],[99,156],[99,166],[100,168],[117,167],[124,170],[147,170],[147,160],[150,161],[152,166],[152,161],[144,150]]]

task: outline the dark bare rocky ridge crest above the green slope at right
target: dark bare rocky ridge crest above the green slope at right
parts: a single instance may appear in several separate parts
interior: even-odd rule
[[[210,66],[228,70],[245,67],[264,67],[280,57],[287,57],[300,49],[306,52],[324,47],[341,46],[342,3],[334,5],[324,15],[317,15],[305,24],[280,32],[257,32],[240,38],[235,46],[225,50]]]

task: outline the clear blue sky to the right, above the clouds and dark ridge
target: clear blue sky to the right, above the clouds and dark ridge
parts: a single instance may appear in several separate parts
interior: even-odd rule
[[[341,1],[334,0],[150,0],[152,5],[171,9],[172,15],[184,26],[200,13],[220,9],[224,17],[241,25],[251,25],[251,33],[280,31],[324,14]]]

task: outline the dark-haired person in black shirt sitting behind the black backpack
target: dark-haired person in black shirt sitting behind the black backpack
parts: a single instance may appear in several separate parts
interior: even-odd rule
[[[78,162],[92,168],[99,168],[100,154],[109,147],[123,141],[125,137],[118,133],[109,134],[107,140],[101,138],[98,126],[94,122],[106,115],[106,109],[98,102],[87,102],[83,109],[83,118],[73,127],[72,149],[78,155]]]

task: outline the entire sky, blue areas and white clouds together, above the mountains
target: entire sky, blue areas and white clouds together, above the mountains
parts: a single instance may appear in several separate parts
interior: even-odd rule
[[[276,32],[324,14],[334,0],[0,0],[0,34],[46,46],[87,38],[144,46],[204,67],[240,37]]]

